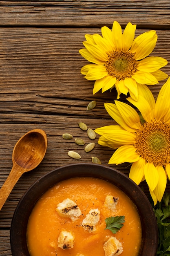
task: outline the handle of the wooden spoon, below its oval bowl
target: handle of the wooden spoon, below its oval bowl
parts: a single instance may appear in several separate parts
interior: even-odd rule
[[[23,168],[21,168],[18,164],[13,165],[9,176],[7,177],[7,180],[4,182],[0,189],[0,210],[2,209],[13,187],[18,182],[19,178],[23,173]]]

